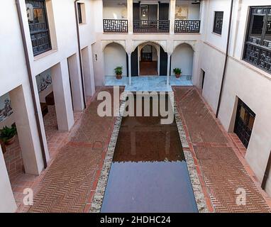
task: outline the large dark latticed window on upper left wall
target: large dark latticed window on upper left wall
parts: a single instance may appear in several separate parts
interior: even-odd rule
[[[28,25],[31,35],[33,55],[51,50],[50,32],[45,0],[26,0]]]

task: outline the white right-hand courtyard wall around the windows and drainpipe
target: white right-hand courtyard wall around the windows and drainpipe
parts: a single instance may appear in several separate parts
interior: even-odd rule
[[[216,112],[223,62],[225,60],[228,16],[231,1],[204,1],[204,28],[198,71],[205,74],[203,96]],[[236,118],[236,99],[239,97],[256,114],[253,132],[245,155],[259,181],[267,165],[271,149],[271,75],[243,61],[243,44],[248,21],[249,6],[268,6],[270,1],[235,0],[231,28],[230,57],[226,69],[219,120],[227,131],[232,132]],[[222,35],[212,33],[214,11],[224,11]],[[271,173],[270,173],[271,175]],[[271,177],[267,180],[267,194],[271,194]]]

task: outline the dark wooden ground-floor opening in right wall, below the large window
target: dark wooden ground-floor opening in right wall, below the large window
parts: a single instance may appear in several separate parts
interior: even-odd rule
[[[245,148],[248,148],[248,143],[253,130],[254,121],[254,112],[247,105],[245,105],[242,100],[239,99],[234,133],[238,135],[238,138],[241,140]]]

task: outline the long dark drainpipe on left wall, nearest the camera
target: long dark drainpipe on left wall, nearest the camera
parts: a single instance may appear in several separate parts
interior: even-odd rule
[[[31,87],[31,95],[32,95],[33,104],[34,104],[35,121],[37,122],[37,127],[38,127],[38,138],[40,139],[40,147],[41,147],[41,152],[43,155],[43,165],[44,165],[44,168],[46,169],[48,167],[48,165],[47,165],[47,161],[46,161],[43,135],[41,133],[41,125],[40,125],[41,120],[40,120],[40,116],[38,115],[37,102],[35,101],[36,99],[35,99],[33,76],[32,76],[32,72],[31,72],[31,65],[30,65],[30,60],[29,60],[29,55],[28,55],[27,44],[26,44],[26,33],[24,32],[24,29],[23,29],[23,16],[21,14],[21,6],[20,6],[19,0],[16,0],[16,8],[17,8],[18,19],[19,19],[19,23],[20,23],[21,37],[23,40],[23,52],[24,52],[24,56],[25,56],[25,60],[26,60],[28,79],[29,79],[29,84]]]

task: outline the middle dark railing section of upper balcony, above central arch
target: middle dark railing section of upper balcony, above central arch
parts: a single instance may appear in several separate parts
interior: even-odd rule
[[[169,20],[133,21],[134,33],[170,33]]]

